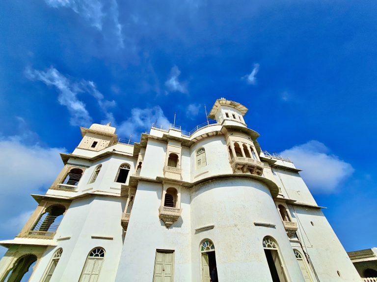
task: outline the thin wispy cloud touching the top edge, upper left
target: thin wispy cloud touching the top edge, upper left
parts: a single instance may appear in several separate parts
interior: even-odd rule
[[[118,3],[110,0],[104,5],[101,0],[45,0],[53,8],[70,8],[86,21],[102,31],[105,22],[111,22],[111,33],[118,39],[119,47],[124,47],[122,25],[119,23]]]

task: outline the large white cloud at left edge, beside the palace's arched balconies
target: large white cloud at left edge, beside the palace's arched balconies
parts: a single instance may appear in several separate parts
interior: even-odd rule
[[[26,145],[22,136],[0,137],[0,238],[15,236],[37,203],[30,194],[44,194],[63,167],[65,148]]]

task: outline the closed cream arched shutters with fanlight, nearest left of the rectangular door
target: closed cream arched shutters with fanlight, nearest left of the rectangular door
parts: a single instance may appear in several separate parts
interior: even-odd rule
[[[103,248],[97,247],[90,251],[79,282],[97,282],[100,276],[101,266],[105,258],[105,250]]]

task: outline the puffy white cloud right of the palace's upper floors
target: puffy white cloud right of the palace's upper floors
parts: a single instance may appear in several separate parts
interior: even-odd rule
[[[351,164],[329,153],[329,149],[319,141],[308,141],[280,153],[289,157],[300,172],[312,192],[336,192],[339,184],[354,171]]]

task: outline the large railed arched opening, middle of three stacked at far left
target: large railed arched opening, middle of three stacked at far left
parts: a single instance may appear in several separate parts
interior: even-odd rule
[[[64,212],[65,207],[62,205],[48,207],[46,211],[39,216],[31,230],[42,234],[45,234],[46,232],[55,232],[59,227]]]

